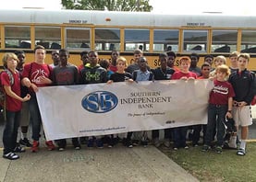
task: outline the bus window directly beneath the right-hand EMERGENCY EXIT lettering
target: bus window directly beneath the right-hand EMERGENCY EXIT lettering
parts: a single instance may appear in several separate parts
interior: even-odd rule
[[[207,30],[184,30],[183,51],[206,51]]]

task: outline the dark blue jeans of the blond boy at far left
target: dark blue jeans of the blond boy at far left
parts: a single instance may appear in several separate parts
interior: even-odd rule
[[[3,133],[4,154],[12,152],[16,147],[20,111],[6,110],[6,126]]]

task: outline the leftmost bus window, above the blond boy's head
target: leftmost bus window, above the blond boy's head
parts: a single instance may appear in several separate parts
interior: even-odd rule
[[[6,48],[30,49],[30,27],[6,26]]]

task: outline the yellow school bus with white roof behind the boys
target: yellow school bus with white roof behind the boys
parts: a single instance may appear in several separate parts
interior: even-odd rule
[[[33,61],[36,45],[47,50],[46,63],[52,63],[51,51],[67,49],[70,63],[76,65],[81,64],[81,51],[98,51],[100,59],[110,59],[116,50],[132,63],[133,51],[140,49],[152,68],[159,66],[158,55],[164,51],[177,53],[177,66],[179,56],[192,52],[200,55],[200,66],[206,54],[224,55],[228,60],[230,52],[240,51],[250,53],[250,70],[256,71],[256,17],[250,16],[1,10],[0,44],[0,57],[22,50],[27,62]]]

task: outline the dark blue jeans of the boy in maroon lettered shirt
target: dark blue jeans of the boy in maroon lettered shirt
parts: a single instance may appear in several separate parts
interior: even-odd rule
[[[213,105],[208,107],[208,123],[205,136],[205,144],[213,142],[213,130],[217,130],[217,145],[222,146],[225,136],[225,125],[227,105]]]

